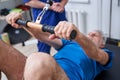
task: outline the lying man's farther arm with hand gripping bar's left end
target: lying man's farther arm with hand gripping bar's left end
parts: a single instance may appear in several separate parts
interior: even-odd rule
[[[6,21],[13,26],[14,28],[24,28],[29,33],[32,33],[32,36],[36,37],[38,40],[47,43],[50,46],[53,46],[56,49],[59,49],[62,46],[62,41],[58,38],[49,39],[50,33],[42,32],[41,29],[36,29],[34,27],[23,27],[15,23],[18,18],[22,18],[21,13],[12,12],[6,16]]]

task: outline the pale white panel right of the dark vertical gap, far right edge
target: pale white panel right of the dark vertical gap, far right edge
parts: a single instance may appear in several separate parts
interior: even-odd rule
[[[112,0],[111,37],[120,40],[120,0]]]

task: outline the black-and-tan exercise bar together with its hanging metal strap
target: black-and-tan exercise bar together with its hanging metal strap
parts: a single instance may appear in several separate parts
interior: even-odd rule
[[[18,19],[16,20],[16,23],[19,25],[24,25],[27,27],[34,27],[36,29],[42,30],[43,32],[49,32],[51,34],[54,34],[54,26],[48,26],[48,25],[42,25],[39,24],[43,15],[45,14],[45,12],[49,9],[49,7],[53,4],[53,0],[47,0],[45,7],[43,8],[43,10],[38,14],[38,17],[36,19],[36,22],[30,22],[30,21],[25,21],[25,20],[21,20]],[[76,36],[76,31],[73,30],[70,34],[70,39],[74,39]]]

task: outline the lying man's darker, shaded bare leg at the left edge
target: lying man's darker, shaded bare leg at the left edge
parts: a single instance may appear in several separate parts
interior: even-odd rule
[[[0,40],[0,71],[8,80],[22,80],[26,57]]]

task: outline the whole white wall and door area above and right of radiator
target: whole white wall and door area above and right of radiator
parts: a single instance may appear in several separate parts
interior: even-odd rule
[[[82,26],[86,32],[98,29],[106,37],[120,40],[120,0],[69,0],[66,9],[86,13],[86,25]]]

